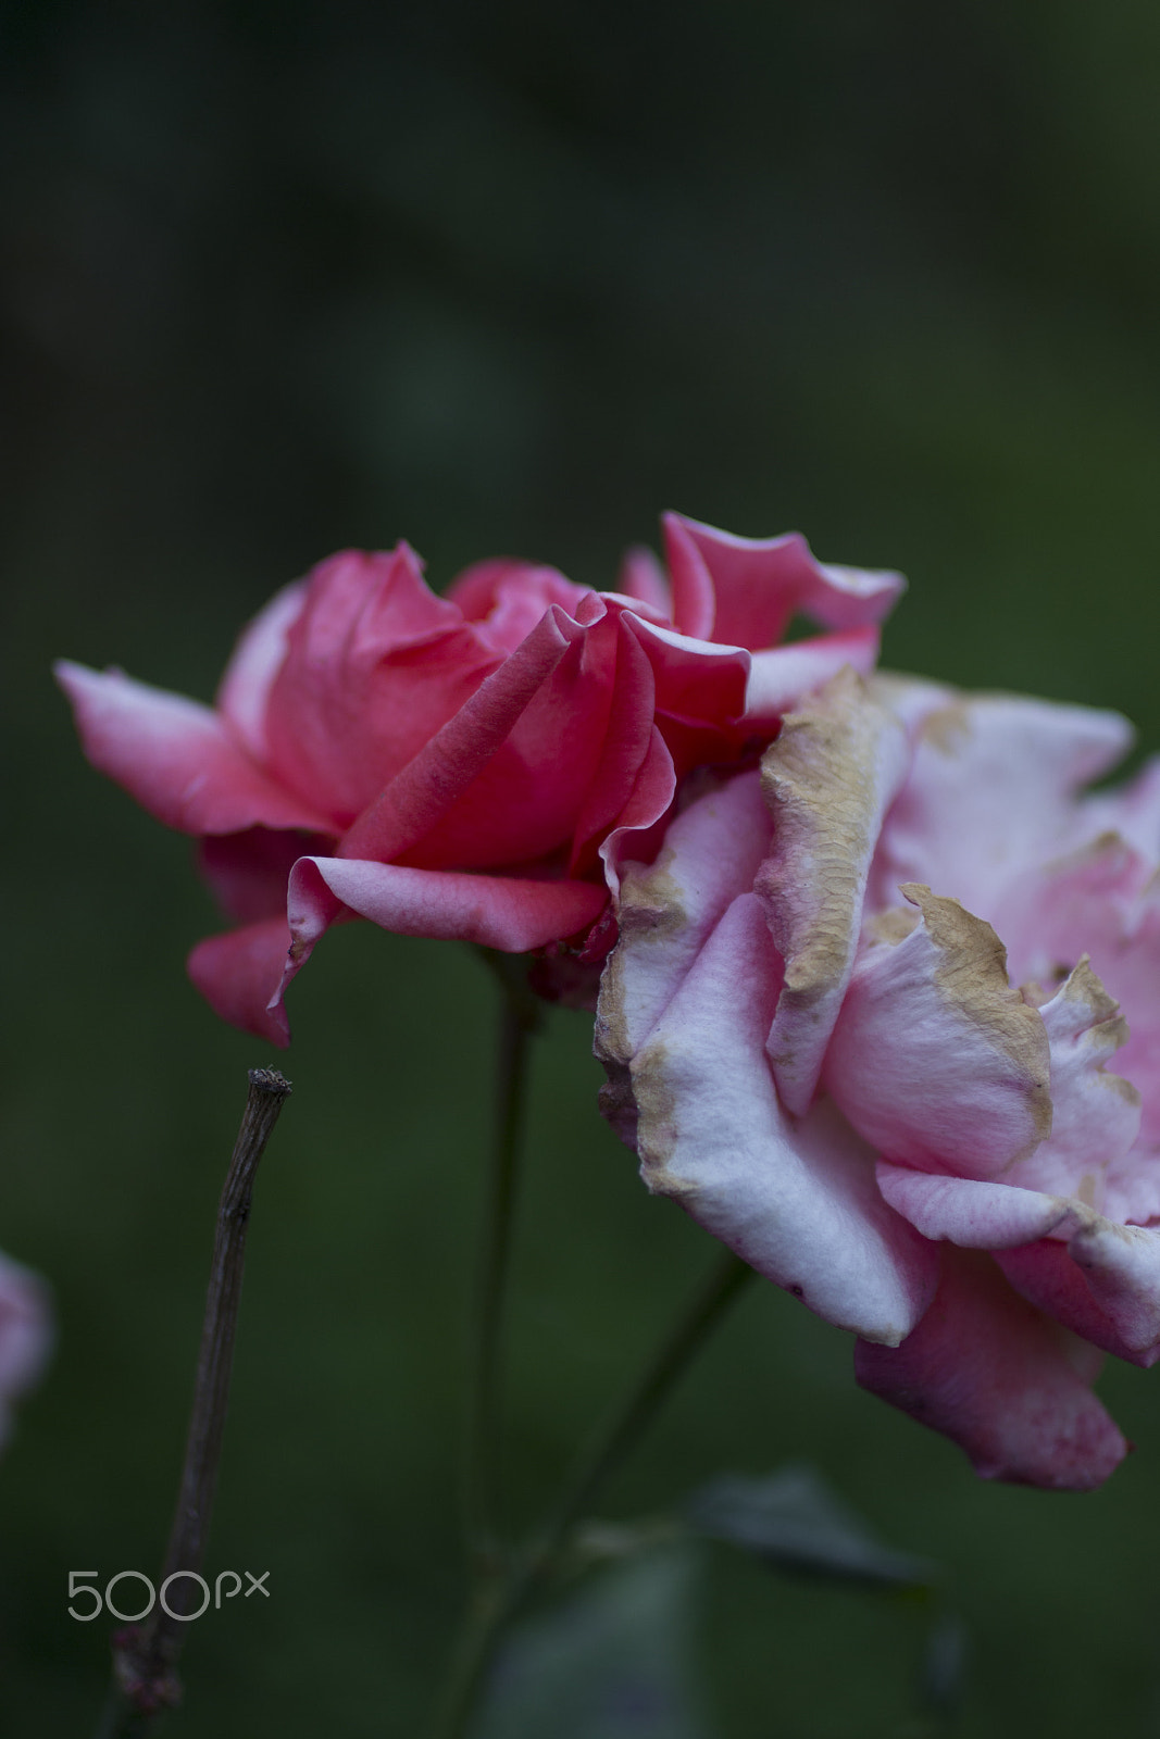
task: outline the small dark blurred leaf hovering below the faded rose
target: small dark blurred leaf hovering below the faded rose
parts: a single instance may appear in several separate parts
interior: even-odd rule
[[[784,1468],[763,1480],[723,1475],[694,1496],[687,1513],[701,1534],[783,1570],[892,1588],[937,1581],[932,1563],[882,1546],[812,1468]]]

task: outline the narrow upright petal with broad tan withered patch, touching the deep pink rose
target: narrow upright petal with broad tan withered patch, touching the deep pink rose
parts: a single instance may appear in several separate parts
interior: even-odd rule
[[[774,845],[757,889],[786,962],[769,1054],[797,1113],[817,1085],[854,969],[875,842],[904,770],[901,727],[850,670],[786,715],[762,760]]]

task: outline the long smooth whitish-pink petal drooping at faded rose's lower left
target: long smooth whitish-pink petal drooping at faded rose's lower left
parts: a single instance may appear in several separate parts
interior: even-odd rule
[[[779,962],[736,899],[605,1104],[649,1188],[817,1315],[896,1344],[934,1287],[932,1247],[880,1198],[873,1156],[821,1103],[793,1122],[763,1038]],[[624,1090],[626,1089],[626,1090]]]

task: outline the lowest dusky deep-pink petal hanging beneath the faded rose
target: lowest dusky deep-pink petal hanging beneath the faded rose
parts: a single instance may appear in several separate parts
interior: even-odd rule
[[[854,1369],[871,1395],[953,1438],[984,1480],[1085,1492],[1127,1454],[1087,1386],[1089,1351],[974,1252],[944,1247],[915,1332],[899,1348],[859,1343]]]

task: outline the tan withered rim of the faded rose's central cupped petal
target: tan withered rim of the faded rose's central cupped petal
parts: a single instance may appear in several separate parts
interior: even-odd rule
[[[899,892],[918,906],[927,936],[943,956],[934,983],[944,998],[1014,1064],[1030,1085],[1028,1104],[1035,1136],[1012,1158],[1033,1153],[1050,1136],[1050,1045],[1037,1009],[1007,977],[1007,949],[984,918],[957,899],[932,894],[922,882],[904,882]]]

